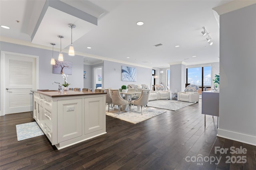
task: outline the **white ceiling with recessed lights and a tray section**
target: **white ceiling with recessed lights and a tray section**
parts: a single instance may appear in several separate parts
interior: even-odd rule
[[[10,27],[1,27],[0,35],[1,39],[10,37],[49,49],[54,42],[58,51],[57,35],[64,36],[62,49],[68,49],[71,43],[68,23],[73,23],[76,25],[72,31],[75,52],[85,56],[87,64],[110,60],[161,68],[180,61],[216,62],[219,61],[220,32],[218,15],[212,8],[230,1],[62,0],[70,9],[60,11],[50,5],[44,11],[45,0],[0,0],[0,25]],[[74,16],[78,11],[98,18],[98,23]],[[136,25],[137,21],[144,21],[144,25]],[[206,36],[202,36],[203,26],[210,32],[212,46]],[[159,43],[162,46],[154,46]]]

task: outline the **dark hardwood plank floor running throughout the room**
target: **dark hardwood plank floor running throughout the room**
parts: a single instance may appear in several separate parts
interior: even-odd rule
[[[256,170],[255,146],[216,137],[216,117],[206,115],[204,127],[201,100],[137,124],[106,116],[105,135],[61,150],[45,135],[17,141],[16,125],[31,121],[29,112],[0,117],[1,170]],[[232,154],[232,146],[247,152]],[[246,163],[236,163],[242,156]]]

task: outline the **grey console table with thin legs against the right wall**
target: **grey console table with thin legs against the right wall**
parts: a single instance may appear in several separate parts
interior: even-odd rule
[[[202,114],[204,114],[204,126],[206,115],[217,116],[217,128],[219,126],[219,92],[204,91],[202,92]]]

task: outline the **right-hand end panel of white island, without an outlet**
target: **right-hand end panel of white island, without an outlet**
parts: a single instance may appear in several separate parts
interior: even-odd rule
[[[103,97],[84,99],[85,134],[92,133],[103,128],[103,106]],[[104,114],[104,116],[106,115]]]

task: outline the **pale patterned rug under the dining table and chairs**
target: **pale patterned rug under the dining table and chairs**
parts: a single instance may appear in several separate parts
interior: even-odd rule
[[[160,115],[162,113],[165,113],[166,110],[163,109],[156,109],[156,108],[149,108],[148,107],[148,113],[146,110],[146,107],[142,108],[142,115],[141,115],[141,111],[137,111],[137,106],[133,107],[131,109],[131,113],[129,111],[120,111],[119,115],[118,115],[118,107],[116,106],[114,108],[114,110],[111,108],[109,109],[108,112],[108,107],[106,107],[106,115],[111,116],[111,117],[115,117],[117,119],[121,119],[124,121],[128,121],[130,123],[139,123],[141,121],[150,119],[152,117],[155,117],[157,115]]]

